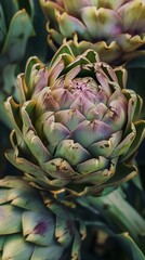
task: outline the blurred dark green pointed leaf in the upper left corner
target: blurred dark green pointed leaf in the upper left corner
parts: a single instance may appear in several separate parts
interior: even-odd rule
[[[0,70],[24,56],[27,40],[34,34],[32,12],[30,0],[0,0]]]

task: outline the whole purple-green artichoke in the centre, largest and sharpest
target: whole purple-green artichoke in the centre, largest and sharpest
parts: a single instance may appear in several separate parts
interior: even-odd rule
[[[64,44],[49,67],[30,57],[17,77],[19,104],[5,102],[14,128],[8,159],[39,187],[76,196],[131,179],[145,121],[126,81],[123,67],[93,50],[75,56]]]

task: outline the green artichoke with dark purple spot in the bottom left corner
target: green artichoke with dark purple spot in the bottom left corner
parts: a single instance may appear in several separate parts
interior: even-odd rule
[[[0,180],[1,260],[79,260],[84,233],[83,224],[49,194],[16,177]]]

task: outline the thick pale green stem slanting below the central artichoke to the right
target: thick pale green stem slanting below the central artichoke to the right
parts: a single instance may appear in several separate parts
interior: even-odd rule
[[[79,198],[78,203],[93,211],[94,214],[102,216],[114,232],[128,232],[141,250],[145,252],[145,220],[126,200],[121,188],[98,197]]]

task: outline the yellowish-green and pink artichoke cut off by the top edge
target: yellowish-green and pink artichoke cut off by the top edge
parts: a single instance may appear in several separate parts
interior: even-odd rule
[[[111,64],[142,55],[144,0],[40,0],[40,4],[48,20],[48,42],[54,51],[67,38],[76,53],[91,48]]]

